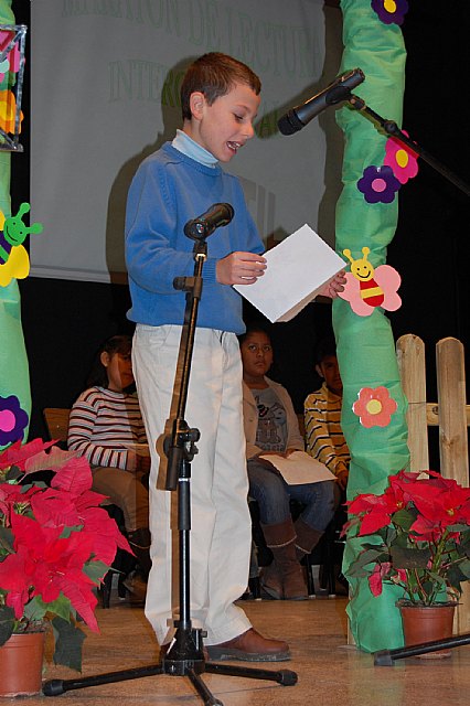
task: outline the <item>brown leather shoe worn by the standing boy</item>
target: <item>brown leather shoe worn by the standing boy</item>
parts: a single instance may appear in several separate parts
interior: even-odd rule
[[[209,644],[206,650],[210,660],[215,661],[286,662],[290,660],[287,642],[264,638],[254,628],[227,642]]]

